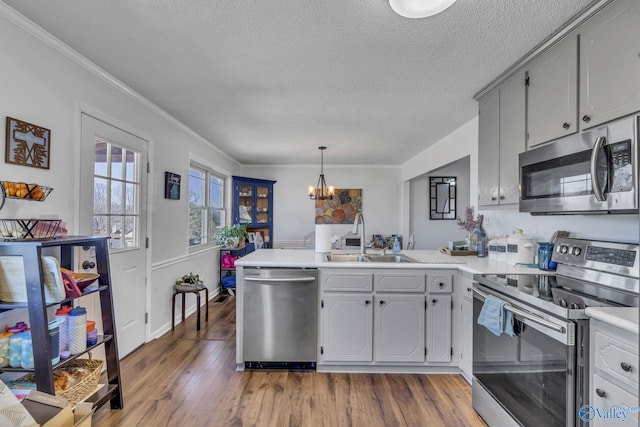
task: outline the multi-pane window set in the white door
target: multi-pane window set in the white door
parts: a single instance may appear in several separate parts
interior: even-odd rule
[[[140,153],[97,139],[93,193],[93,235],[110,236],[112,250],[140,245]]]

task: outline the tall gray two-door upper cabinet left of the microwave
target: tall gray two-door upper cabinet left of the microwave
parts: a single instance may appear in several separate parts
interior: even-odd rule
[[[525,150],[525,95],[524,70],[518,70],[478,101],[479,206],[517,206],[519,202],[518,155]]]

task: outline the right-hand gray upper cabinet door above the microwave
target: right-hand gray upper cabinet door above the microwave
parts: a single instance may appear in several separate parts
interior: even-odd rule
[[[640,111],[640,3],[617,0],[580,34],[580,128]]]

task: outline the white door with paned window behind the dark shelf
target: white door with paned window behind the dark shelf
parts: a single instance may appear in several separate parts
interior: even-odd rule
[[[82,114],[80,232],[109,236],[118,353],[146,338],[148,142]]]

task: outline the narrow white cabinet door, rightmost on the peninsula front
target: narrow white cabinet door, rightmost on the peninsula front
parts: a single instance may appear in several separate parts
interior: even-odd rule
[[[450,362],[451,295],[427,295],[427,362]]]

